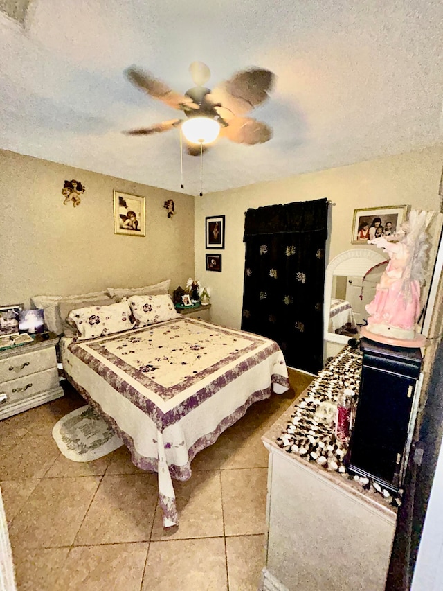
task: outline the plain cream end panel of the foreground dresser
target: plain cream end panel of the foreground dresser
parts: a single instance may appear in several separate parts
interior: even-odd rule
[[[292,410],[262,437],[269,474],[260,591],[384,591],[395,511],[276,445]]]

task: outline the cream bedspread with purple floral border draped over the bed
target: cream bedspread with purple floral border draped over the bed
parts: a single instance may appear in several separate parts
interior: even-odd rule
[[[289,387],[275,342],[175,317],[106,337],[63,337],[66,377],[114,428],[132,461],[159,475],[163,524],[178,523],[172,479],[273,390]]]

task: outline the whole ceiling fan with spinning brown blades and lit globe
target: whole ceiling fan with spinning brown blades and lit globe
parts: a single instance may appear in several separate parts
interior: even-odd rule
[[[192,62],[189,71],[195,87],[180,94],[151,73],[136,67],[128,68],[125,74],[132,84],[152,98],[182,111],[186,118],[170,119],[125,133],[151,135],[179,127],[186,139],[186,151],[192,156],[201,155],[217,136],[248,145],[271,139],[269,125],[245,116],[268,98],[275,78],[271,71],[246,69],[212,90],[204,86],[210,78],[206,64]]]

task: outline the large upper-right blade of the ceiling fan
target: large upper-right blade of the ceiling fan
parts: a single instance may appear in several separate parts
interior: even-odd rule
[[[236,73],[222,82],[208,96],[213,104],[220,103],[220,116],[232,118],[245,115],[269,97],[275,75],[263,68],[252,68]]]

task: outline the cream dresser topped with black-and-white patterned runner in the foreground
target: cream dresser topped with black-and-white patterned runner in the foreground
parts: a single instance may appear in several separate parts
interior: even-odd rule
[[[261,591],[384,591],[399,498],[347,472],[335,434],[362,353],[345,346],[262,436],[269,450]],[[376,486],[377,485],[377,486]]]

